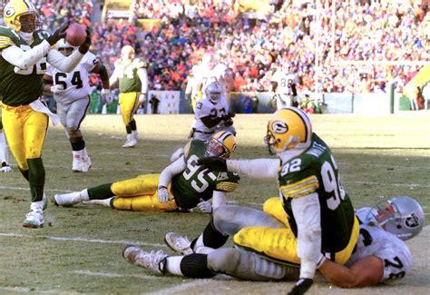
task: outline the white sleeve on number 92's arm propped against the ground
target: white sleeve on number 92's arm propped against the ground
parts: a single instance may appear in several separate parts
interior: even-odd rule
[[[321,253],[321,215],[318,193],[294,198],[291,209],[298,225],[300,278],[313,279]]]

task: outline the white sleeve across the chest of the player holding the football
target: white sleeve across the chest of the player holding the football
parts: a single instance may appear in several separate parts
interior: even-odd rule
[[[36,64],[51,49],[51,45],[44,40],[32,49],[24,51],[17,46],[9,46],[2,50],[2,57],[9,64],[14,64],[20,69],[28,69]],[[64,55],[62,55],[64,57]]]

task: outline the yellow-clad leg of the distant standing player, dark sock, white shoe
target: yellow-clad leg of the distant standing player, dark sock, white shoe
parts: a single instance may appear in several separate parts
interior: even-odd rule
[[[120,93],[122,121],[127,132],[127,140],[122,147],[133,147],[137,144],[137,140],[132,134],[133,129],[135,133],[137,132],[136,122],[132,117],[139,106],[139,96],[137,94],[138,93]]]

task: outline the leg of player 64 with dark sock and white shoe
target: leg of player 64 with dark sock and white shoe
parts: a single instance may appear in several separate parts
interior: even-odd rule
[[[73,150],[73,172],[88,172],[91,167],[91,159],[86,151],[80,129],[89,105],[89,97],[84,97],[68,104],[65,113],[64,126]]]

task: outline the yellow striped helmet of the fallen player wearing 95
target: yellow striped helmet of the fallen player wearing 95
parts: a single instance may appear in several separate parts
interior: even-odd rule
[[[205,157],[219,157],[227,160],[236,150],[236,137],[228,131],[214,134],[206,146]]]

